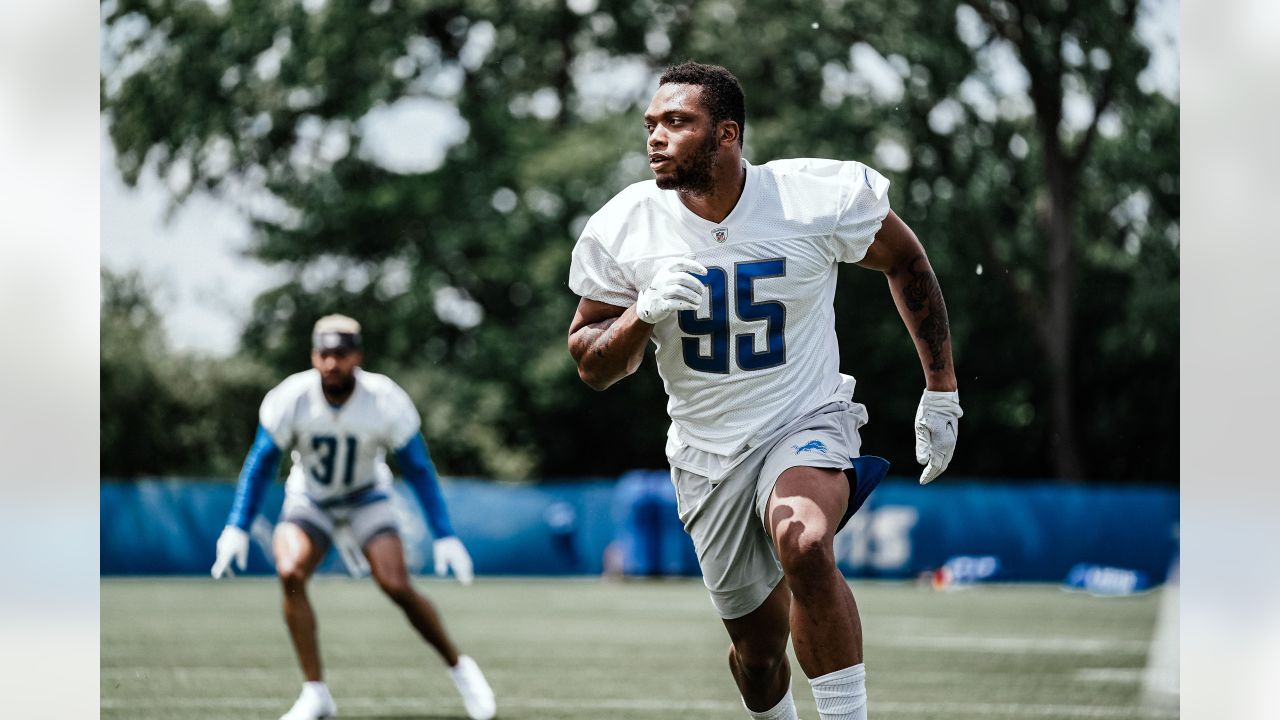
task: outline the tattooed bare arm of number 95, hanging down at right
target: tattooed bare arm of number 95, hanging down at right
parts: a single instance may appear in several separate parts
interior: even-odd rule
[[[858,264],[879,270],[888,279],[897,313],[915,341],[915,351],[924,368],[925,387],[942,392],[956,389],[947,306],[942,301],[942,288],[924,254],[924,246],[911,228],[890,210],[876,233],[876,242],[872,242],[867,256]]]

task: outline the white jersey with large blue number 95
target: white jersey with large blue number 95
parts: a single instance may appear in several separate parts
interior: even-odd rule
[[[653,181],[627,187],[586,223],[568,281],[581,297],[627,307],[667,260],[708,269],[701,307],[668,315],[653,340],[672,439],[717,455],[851,396],[836,264],[861,260],[888,214],[888,181],[861,163],[744,165],[742,195],[721,223]]]

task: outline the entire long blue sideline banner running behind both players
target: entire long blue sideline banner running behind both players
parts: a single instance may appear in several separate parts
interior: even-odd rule
[[[666,471],[536,486],[451,479],[443,489],[479,574],[698,574]],[[104,482],[101,573],[207,573],[233,496],[220,480]],[[282,498],[276,483],[250,551],[252,574],[273,571],[264,550]],[[430,573],[417,501],[397,483],[393,502],[410,568]],[[1178,493],[1164,488],[890,479],[837,536],[836,553],[849,577],[911,578],[978,556],[997,559],[1001,580],[1061,582],[1073,566],[1096,564],[1162,582],[1178,512]],[[335,553],[320,570],[342,571]]]

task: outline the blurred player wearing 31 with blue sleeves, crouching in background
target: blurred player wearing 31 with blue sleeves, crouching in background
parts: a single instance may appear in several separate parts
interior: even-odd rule
[[[244,569],[247,529],[276,475],[282,454],[291,450],[293,466],[273,551],[284,589],[285,624],[306,683],[282,720],[337,714],[321,679],[315,614],[307,600],[307,579],[335,533],[348,534],[364,550],[378,587],[448,664],[467,716],[488,720],[495,712],[493,691],[475,660],[458,653],[431,603],[413,589],[388,497],[390,474],[384,457],[390,450],[435,536],[436,574],[452,569],[458,580],[470,584],[471,557],[449,523],[417,409],[394,380],[360,368],[364,352],[356,320],[344,315],[321,318],[311,347],[312,369],[291,375],[262,400],[257,437],[241,471],[227,527],[218,538],[211,573],[215,578],[230,574],[233,560]]]

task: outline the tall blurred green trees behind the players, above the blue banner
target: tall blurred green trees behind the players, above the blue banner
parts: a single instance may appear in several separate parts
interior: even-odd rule
[[[660,382],[577,380],[564,282],[586,217],[648,174],[655,73],[691,56],[741,78],[754,161],[858,158],[893,181],[951,309],[956,474],[1176,480],[1178,106],[1137,83],[1128,0],[104,8],[124,178],[239,202],[253,254],[293,269],[244,354],[292,372],[316,316],[358,316],[445,471],[663,462]],[[864,447],[909,471],[914,350],[874,275],[842,278]]]

